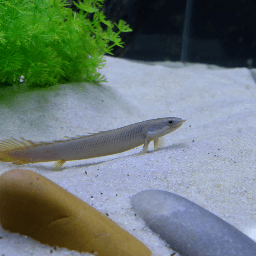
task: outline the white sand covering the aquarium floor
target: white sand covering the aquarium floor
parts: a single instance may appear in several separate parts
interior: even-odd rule
[[[168,62],[147,65],[112,57],[106,61],[101,73],[108,83],[100,86],[65,84],[59,90],[12,97],[1,90],[0,140],[20,136],[58,140],[153,118],[188,119],[164,137],[166,146],[154,151],[151,143],[142,156],[137,156],[140,146],[117,155],[70,161],[60,171],[52,169],[53,162],[24,166],[0,162],[0,174],[18,167],[44,175],[108,213],[154,256],[173,251],[134,216],[130,203],[132,195],[150,188],[184,196],[256,238],[256,85],[250,70],[179,63],[175,68],[163,66]],[[80,255],[2,228],[0,252]]]

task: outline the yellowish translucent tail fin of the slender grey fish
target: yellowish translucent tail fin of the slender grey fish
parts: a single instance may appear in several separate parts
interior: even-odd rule
[[[28,164],[27,160],[17,159],[15,156],[12,156],[11,152],[15,149],[28,148],[28,146],[34,146],[38,144],[31,140],[25,140],[20,137],[20,141],[14,138],[0,140],[0,161],[3,162],[13,162],[13,164]]]

